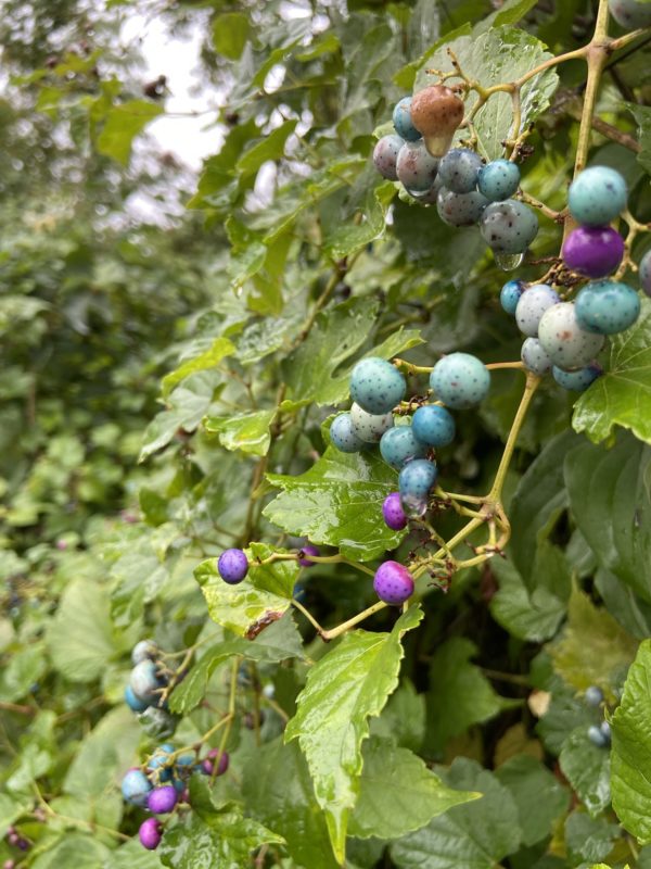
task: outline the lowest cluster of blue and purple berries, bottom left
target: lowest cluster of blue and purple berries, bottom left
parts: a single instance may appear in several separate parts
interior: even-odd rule
[[[215,778],[222,776],[228,767],[228,752],[212,748],[202,760],[196,753],[177,751],[170,743],[164,743],[143,767],[129,769],[122,781],[123,797],[154,816],[140,824],[138,835],[142,845],[154,851],[161,843],[163,823],[155,816],[170,815],[189,806],[188,783],[193,772]]]

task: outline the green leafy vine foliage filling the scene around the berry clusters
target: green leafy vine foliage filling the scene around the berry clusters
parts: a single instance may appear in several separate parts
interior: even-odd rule
[[[592,4],[152,4],[171,30],[201,33],[219,89],[209,121],[225,140],[199,179],[148,138],[166,97],[143,90],[138,46],[118,39],[132,12],[10,0],[0,24],[0,832],[15,822],[31,844],[16,855],[3,841],[0,857],[651,866],[651,303],[574,407],[539,390],[509,471],[508,558],[447,594],[424,588],[400,619],[383,610],[327,647],[290,612],[296,580],[326,625],[371,603],[370,580],[280,563],[233,591],[212,561],[306,538],[371,563],[417,545],[380,519],[394,471],[327,445],[349,369],[371,349],[421,365],[452,349],[515,358],[519,338],[477,234],[398,198],[370,165],[373,134],[446,46],[483,84],[509,80],[585,43]],[[599,134],[590,152],[625,175],[641,222],[650,68],[643,47],[614,55],[598,104],[639,134],[639,153]],[[569,63],[527,103],[523,185],[554,209],[584,87]],[[478,121],[490,156],[509,126],[495,105]],[[156,203],[155,224],[135,196]],[[535,257],[559,242],[541,217]],[[450,489],[487,488],[519,376],[494,377],[460,418]],[[284,615],[242,639],[270,608]],[[232,771],[213,793],[193,781],[192,815],[155,853],[128,841],[142,813],[119,795],[159,741],[123,702],[130,648],[149,635],[168,653],[200,643],[170,698],[179,746],[227,709],[239,666]],[[587,738],[603,716],[584,702],[592,684],[609,718],[616,707],[612,754]]]

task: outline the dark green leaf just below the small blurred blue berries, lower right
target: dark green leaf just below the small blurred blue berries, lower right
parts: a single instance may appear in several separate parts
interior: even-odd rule
[[[611,774],[608,748],[592,745],[587,727],[572,731],[559,756],[563,776],[593,818],[610,804]]]

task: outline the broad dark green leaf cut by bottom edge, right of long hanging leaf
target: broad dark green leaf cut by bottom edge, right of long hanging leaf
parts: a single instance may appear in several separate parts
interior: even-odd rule
[[[456,806],[394,842],[394,862],[399,869],[494,869],[520,845],[513,797],[492,772],[463,757],[456,758],[441,778],[448,788],[478,791],[483,797]]]

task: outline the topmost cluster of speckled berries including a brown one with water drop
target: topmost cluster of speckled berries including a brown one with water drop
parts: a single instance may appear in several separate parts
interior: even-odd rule
[[[448,150],[462,121],[462,100],[444,85],[405,97],[393,112],[395,134],[378,141],[373,162],[417,202],[436,203],[446,224],[478,224],[496,262],[514,268],[536,237],[538,218],[512,199],[520,186],[515,163],[500,159],[484,164],[469,148]]]

